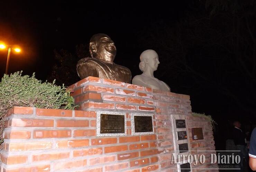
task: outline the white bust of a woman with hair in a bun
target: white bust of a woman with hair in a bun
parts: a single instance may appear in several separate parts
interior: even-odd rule
[[[170,92],[170,87],[163,81],[154,77],[158,67],[158,55],[154,50],[145,50],[140,54],[139,69],[143,72],[132,79],[132,84],[159,89]]]

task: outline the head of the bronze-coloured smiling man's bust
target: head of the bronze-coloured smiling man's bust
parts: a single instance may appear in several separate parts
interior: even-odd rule
[[[117,53],[114,42],[103,33],[91,37],[89,49],[93,58],[107,62],[113,62]]]

